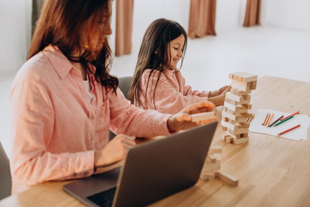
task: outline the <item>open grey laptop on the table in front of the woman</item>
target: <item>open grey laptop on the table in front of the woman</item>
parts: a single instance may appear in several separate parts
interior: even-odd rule
[[[217,122],[142,143],[120,168],[63,186],[90,207],[140,207],[196,184]]]

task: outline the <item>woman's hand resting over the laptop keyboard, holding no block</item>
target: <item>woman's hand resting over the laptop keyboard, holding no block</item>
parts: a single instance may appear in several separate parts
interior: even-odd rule
[[[103,167],[124,159],[128,150],[134,146],[134,137],[116,135],[103,150],[95,151],[95,167]]]

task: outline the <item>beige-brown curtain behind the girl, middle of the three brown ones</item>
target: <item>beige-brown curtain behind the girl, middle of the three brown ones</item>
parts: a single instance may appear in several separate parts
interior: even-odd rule
[[[204,37],[215,34],[216,0],[191,0],[188,36]]]

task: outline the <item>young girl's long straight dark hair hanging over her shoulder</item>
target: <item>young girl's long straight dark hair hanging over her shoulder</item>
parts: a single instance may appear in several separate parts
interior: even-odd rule
[[[155,89],[153,91],[153,104],[155,106],[155,91],[156,87],[163,70],[166,70],[165,63],[167,62],[168,52],[170,53],[170,41],[184,35],[185,42],[183,47],[183,56],[181,60],[181,66],[183,63],[183,59],[186,52],[186,45],[187,45],[187,34],[184,28],[177,22],[172,20],[167,20],[164,18],[156,19],[153,21],[149,27],[147,28],[141,48],[138,55],[138,61],[135,68],[135,74],[133,77],[133,81],[131,84],[131,88],[129,90],[129,100],[133,104],[136,101],[137,106],[142,106],[145,109],[148,109],[148,99],[147,99],[147,90],[150,82],[150,78],[152,73],[158,72],[157,81],[155,84]],[[156,53],[155,53],[156,52]],[[170,56],[170,55],[169,55]],[[171,57],[170,60],[171,61]],[[150,75],[148,77],[147,88],[145,90],[145,103],[142,103],[140,100],[140,95],[142,94],[143,90],[141,88],[141,77],[145,70],[151,69]],[[154,76],[154,75],[153,75]],[[154,81],[154,80],[152,80]]]

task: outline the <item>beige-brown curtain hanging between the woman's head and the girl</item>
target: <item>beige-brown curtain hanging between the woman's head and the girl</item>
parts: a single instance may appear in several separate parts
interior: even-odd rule
[[[131,53],[134,0],[116,0],[115,55]]]

